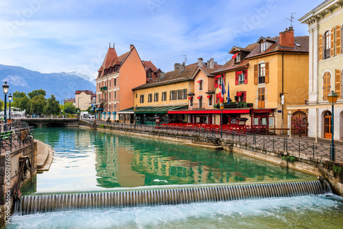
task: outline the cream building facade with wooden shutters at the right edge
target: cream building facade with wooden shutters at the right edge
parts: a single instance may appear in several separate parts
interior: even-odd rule
[[[334,111],[335,140],[343,140],[342,1],[327,0],[299,19],[309,26],[309,136],[331,138],[331,104],[327,95],[338,95]]]

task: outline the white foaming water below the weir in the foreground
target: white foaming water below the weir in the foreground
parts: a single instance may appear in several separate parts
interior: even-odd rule
[[[226,228],[226,226],[229,228],[269,228],[268,224],[271,224],[270,228],[273,226],[278,228],[280,225],[295,224],[292,226],[294,228],[298,227],[303,220],[312,221],[313,215],[329,211],[338,214],[338,218],[343,216],[343,198],[336,195],[307,195],[263,200],[13,215],[12,222],[7,228],[188,229]],[[292,219],[289,219],[289,215],[292,215]],[[332,217],[330,214],[327,215],[327,217]],[[303,217],[309,219],[303,219]],[[255,221],[251,221],[252,219]],[[297,221],[300,223],[297,224]],[[321,221],[326,222],[323,218]]]

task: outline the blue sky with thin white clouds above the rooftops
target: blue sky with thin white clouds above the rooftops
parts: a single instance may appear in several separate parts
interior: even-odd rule
[[[230,59],[233,45],[278,36],[323,0],[3,0],[0,64],[95,77],[108,43],[119,55],[133,44],[142,60],[163,71],[174,63]],[[294,22],[295,36],[308,35]]]

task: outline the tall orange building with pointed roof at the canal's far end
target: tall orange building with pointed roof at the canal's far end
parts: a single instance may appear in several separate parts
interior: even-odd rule
[[[117,111],[133,106],[132,88],[156,78],[160,72],[152,62],[141,60],[134,45],[121,56],[117,56],[114,45],[109,47],[95,80],[97,119],[118,122]]]

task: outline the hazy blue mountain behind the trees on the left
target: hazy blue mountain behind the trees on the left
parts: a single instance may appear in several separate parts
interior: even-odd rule
[[[95,92],[95,86],[88,80],[68,73],[40,73],[22,67],[0,64],[0,80],[10,85],[8,93],[23,91],[29,93],[37,89],[47,92],[47,98],[55,95],[58,101],[65,98],[75,98],[75,91],[90,90]],[[1,83],[2,85],[3,83]],[[3,100],[3,97],[0,99]]]

